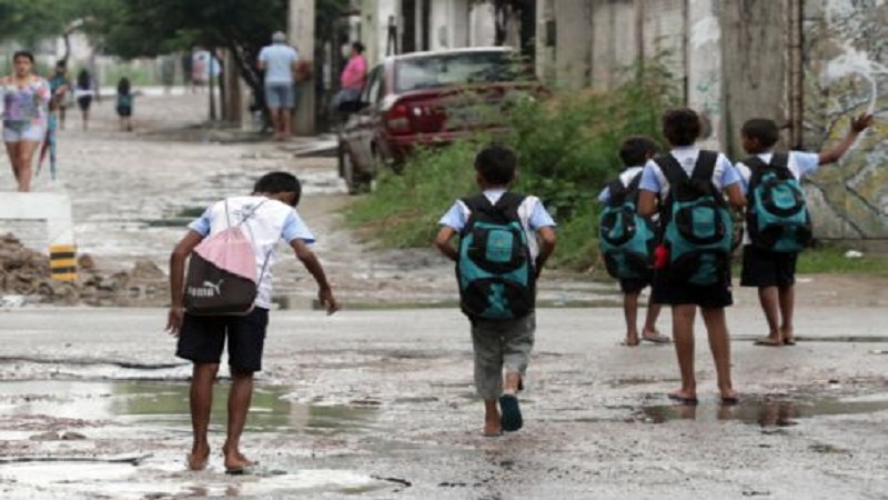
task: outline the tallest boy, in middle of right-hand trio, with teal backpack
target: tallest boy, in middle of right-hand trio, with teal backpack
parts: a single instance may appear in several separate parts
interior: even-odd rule
[[[659,198],[664,236],[655,256],[652,300],[672,306],[673,341],[682,373],[682,388],[669,398],[697,404],[694,319],[699,308],[722,402],[736,404],[725,321],[725,307],[733,303],[729,259],[734,231],[728,206],[739,209],[746,198],[730,161],[694,146],[700,128],[700,118],[692,109],[674,109],[663,116],[663,134],[673,149],[645,164],[638,212],[656,214]]]

